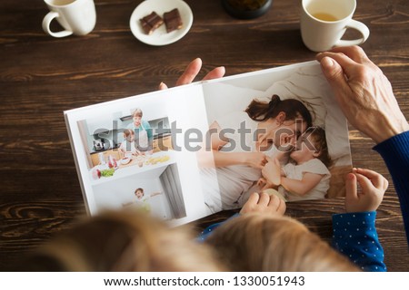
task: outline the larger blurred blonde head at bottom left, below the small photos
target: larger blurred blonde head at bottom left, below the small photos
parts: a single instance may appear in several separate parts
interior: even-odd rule
[[[186,228],[138,211],[106,212],[41,247],[21,271],[219,271]]]

